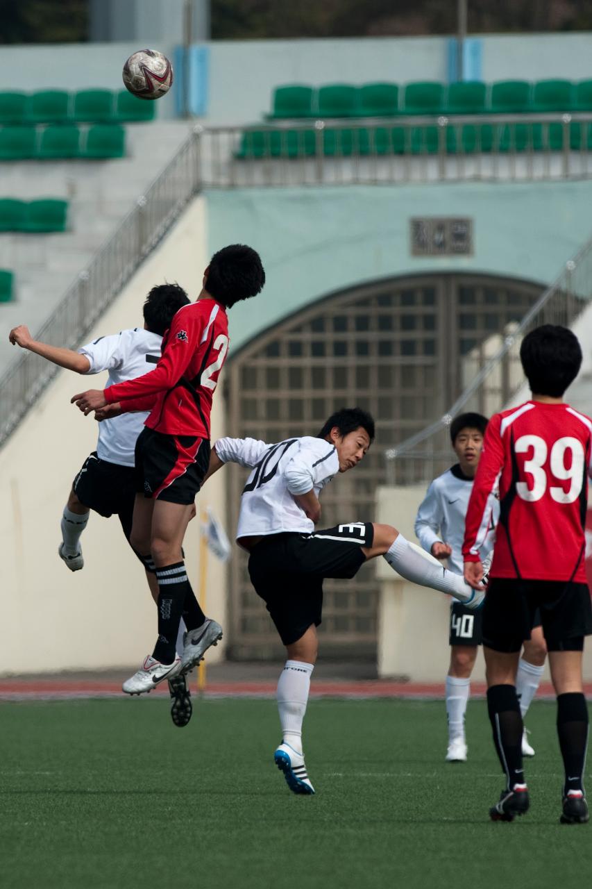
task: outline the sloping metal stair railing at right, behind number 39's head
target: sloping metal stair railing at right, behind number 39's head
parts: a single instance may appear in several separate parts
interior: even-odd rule
[[[468,360],[476,364],[476,375],[449,410],[400,445],[385,451],[388,483],[405,485],[424,482],[444,471],[451,461],[449,427],[460,411],[490,415],[500,411],[524,385],[520,365],[520,343],[524,334],[540,324],[571,326],[592,300],[592,238],[565,263],[556,281],[502,338],[500,347],[487,359],[476,350]]]

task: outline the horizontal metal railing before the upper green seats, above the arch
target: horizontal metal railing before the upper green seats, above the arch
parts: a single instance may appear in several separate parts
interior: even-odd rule
[[[592,114],[368,117],[204,130],[204,188],[592,176]]]

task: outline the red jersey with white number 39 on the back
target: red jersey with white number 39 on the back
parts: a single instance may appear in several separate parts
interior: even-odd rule
[[[499,486],[491,576],[586,583],[592,420],[569,404],[529,401],[496,413],[468,501],[465,562],[479,560],[487,496]]]

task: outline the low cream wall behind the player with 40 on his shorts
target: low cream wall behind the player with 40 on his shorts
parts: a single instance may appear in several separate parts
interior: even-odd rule
[[[451,464],[453,460],[451,459]],[[380,487],[377,521],[395,527],[417,542],[413,523],[427,485]],[[444,682],[450,661],[448,629],[451,598],[405,581],[382,559],[376,559],[379,593],[379,677],[408,677],[411,682]],[[483,650],[473,671],[484,681]],[[548,666],[543,679],[548,681]],[[592,641],[584,652],[584,678],[592,680]]]

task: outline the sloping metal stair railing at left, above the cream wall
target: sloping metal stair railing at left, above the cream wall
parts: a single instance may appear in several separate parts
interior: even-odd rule
[[[56,346],[76,347],[199,186],[199,132],[194,132],[77,276],[37,338]],[[0,378],[0,445],[57,371],[54,364],[24,353]]]

